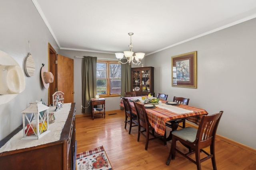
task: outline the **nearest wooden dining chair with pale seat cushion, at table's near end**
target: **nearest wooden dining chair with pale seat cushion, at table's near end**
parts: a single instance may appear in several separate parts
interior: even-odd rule
[[[168,156],[166,164],[169,165],[171,159],[174,160],[177,151],[186,158],[188,158],[188,160],[196,164],[198,170],[201,170],[201,162],[204,162],[205,160],[211,158],[212,167],[214,170],[216,170],[217,167],[214,153],[214,141],[216,130],[220,122],[222,113],[223,111],[220,111],[219,113],[215,113],[213,115],[204,115],[198,126],[198,129],[195,129],[193,127],[186,127],[177,131],[173,131],[170,154]],[[184,153],[178,150],[176,147],[176,141],[180,141],[182,145],[190,147],[189,152]],[[210,153],[203,150],[208,146],[210,146]],[[201,159],[200,152],[204,152],[207,156],[204,156],[204,158]],[[189,157],[189,155],[194,153],[196,156],[196,160]]]

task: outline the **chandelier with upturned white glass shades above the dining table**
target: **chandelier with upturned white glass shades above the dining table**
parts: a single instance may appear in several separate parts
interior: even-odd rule
[[[129,65],[132,63],[134,65],[140,65],[141,60],[143,59],[145,53],[135,53],[135,56],[133,56],[132,52],[132,35],[133,33],[128,33],[130,35],[130,45],[129,45],[129,51],[124,51],[124,53],[115,53],[116,58],[119,60],[118,63],[122,63],[121,59],[125,56],[126,62],[122,64],[129,63]]]

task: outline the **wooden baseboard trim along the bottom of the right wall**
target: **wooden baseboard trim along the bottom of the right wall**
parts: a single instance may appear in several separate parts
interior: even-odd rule
[[[186,122],[186,126],[194,127],[194,128],[196,128],[196,129],[198,128],[196,125],[192,125],[192,124],[187,123],[187,122]],[[238,148],[244,149],[244,150],[246,150],[246,151],[248,151],[248,152],[250,152],[250,153],[252,153],[252,154],[256,154],[256,149],[253,149],[253,148],[251,148],[251,147],[248,147],[248,146],[246,146],[246,145],[244,145],[244,144],[242,144],[242,143],[238,143],[238,142],[236,142],[236,141],[233,141],[233,140],[228,139],[228,138],[226,138],[226,137],[220,136],[220,135],[218,135],[218,134],[216,134],[216,138],[218,138],[218,139],[220,139],[220,140],[222,140],[222,141],[224,141],[224,142],[226,142],[226,143],[229,143],[229,144],[231,144],[231,145],[234,145],[234,146],[236,146],[236,147],[238,147]]]

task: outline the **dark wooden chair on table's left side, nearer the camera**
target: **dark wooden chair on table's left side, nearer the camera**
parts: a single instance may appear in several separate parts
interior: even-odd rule
[[[148,149],[148,141],[162,138],[164,141],[164,145],[166,145],[166,133],[164,133],[164,136],[162,135],[155,135],[154,128],[151,127],[150,123],[148,122],[148,115],[146,112],[146,109],[144,107],[144,104],[139,104],[134,102],[134,106],[137,112],[138,117],[138,139],[137,141],[140,141],[140,134],[142,134],[144,137],[146,137],[146,146],[145,150]],[[141,129],[143,127],[143,129]]]

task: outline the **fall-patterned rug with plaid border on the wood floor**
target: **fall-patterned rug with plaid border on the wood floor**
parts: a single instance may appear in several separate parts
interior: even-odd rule
[[[76,154],[76,170],[113,170],[104,147]]]

